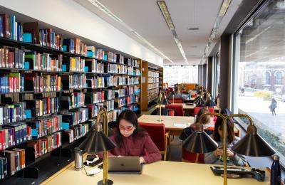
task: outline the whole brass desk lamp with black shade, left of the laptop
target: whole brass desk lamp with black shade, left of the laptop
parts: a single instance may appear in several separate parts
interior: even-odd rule
[[[101,116],[103,116],[103,131],[100,124]],[[108,151],[116,146],[106,135],[108,135],[107,110],[101,107],[95,125],[88,132],[87,138],[79,145],[79,148],[85,152],[103,152],[103,180],[98,181],[98,185],[113,184],[113,181],[108,179]]]

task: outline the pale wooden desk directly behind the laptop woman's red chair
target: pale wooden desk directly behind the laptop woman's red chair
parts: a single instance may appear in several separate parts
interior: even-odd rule
[[[169,131],[171,135],[180,135],[182,129],[184,128],[175,126],[175,123],[185,123],[186,126],[189,127],[193,122],[195,122],[195,117],[193,116],[161,116],[161,119],[162,122],[159,122],[159,115],[142,115],[138,118],[138,122],[147,122],[154,124],[163,123],[165,125],[166,131]]]

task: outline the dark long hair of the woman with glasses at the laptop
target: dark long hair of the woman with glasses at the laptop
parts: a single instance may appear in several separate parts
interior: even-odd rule
[[[140,127],[138,125],[138,117],[135,115],[135,112],[131,110],[124,110],[123,112],[120,113],[118,120],[117,120],[117,125],[116,125],[116,131],[115,131],[115,141],[118,145],[118,147],[121,147],[123,144],[123,135],[120,133],[119,125],[120,125],[120,120],[126,120],[127,122],[130,122],[133,127],[135,127],[133,131],[133,138],[135,137],[142,137],[147,135],[147,132],[145,129]]]

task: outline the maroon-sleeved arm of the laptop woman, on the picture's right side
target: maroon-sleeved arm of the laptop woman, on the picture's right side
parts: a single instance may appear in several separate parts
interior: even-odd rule
[[[144,160],[144,162],[142,161],[142,163],[149,164],[161,160],[160,150],[157,149],[155,143],[152,142],[152,139],[150,138],[149,135],[145,136],[144,148],[145,148],[145,155],[142,156]]]

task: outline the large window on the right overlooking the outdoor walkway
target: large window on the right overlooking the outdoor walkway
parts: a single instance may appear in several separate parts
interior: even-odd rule
[[[285,164],[285,1],[268,1],[234,35],[234,112],[250,115]],[[276,100],[276,108],[271,106]],[[275,111],[275,112],[274,112]],[[275,115],[276,113],[276,115]],[[244,120],[244,127],[249,122]]]

